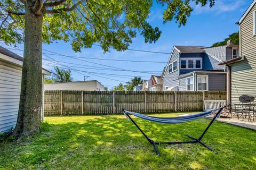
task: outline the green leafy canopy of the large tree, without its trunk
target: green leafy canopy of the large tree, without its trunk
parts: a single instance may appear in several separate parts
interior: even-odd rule
[[[165,7],[163,23],[171,20],[185,25],[193,11],[190,2],[212,7],[216,0],[157,0]],[[70,42],[75,51],[100,43],[103,50],[111,46],[125,50],[137,35],[153,43],[161,31],[146,19],[153,5],[151,0],[72,1],[72,0],[4,0],[0,2],[0,38],[6,44],[20,44],[25,28],[26,5],[36,15],[43,15],[42,40],[50,44],[57,40]]]

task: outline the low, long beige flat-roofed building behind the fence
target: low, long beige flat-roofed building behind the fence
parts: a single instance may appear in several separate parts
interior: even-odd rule
[[[49,83],[44,84],[44,90],[105,91],[104,86],[97,80]]]

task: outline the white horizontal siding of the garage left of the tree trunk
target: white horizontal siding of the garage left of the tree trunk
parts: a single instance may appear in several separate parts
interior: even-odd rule
[[[0,133],[15,126],[19,110],[21,69],[0,62]]]

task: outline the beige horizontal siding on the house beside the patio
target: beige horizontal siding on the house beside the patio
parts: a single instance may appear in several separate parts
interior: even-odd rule
[[[256,96],[256,37],[253,36],[253,11],[256,5],[245,16],[239,25],[241,55],[245,61],[231,65],[231,102],[239,103],[239,96],[250,94]]]

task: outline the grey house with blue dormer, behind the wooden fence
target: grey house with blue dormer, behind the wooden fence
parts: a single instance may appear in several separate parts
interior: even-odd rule
[[[225,91],[225,66],[219,63],[238,54],[229,41],[220,47],[174,46],[163,74],[163,91]]]

